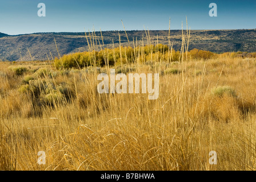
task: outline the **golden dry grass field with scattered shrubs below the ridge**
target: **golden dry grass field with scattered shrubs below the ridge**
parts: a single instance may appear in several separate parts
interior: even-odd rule
[[[113,65],[104,49],[101,67],[92,50],[84,68],[57,69],[65,57],[0,63],[0,170],[254,170],[255,57],[202,59],[188,44],[178,61],[171,49],[145,55],[138,46],[134,59],[125,52]],[[99,94],[97,75],[110,68],[159,73],[158,99]]]

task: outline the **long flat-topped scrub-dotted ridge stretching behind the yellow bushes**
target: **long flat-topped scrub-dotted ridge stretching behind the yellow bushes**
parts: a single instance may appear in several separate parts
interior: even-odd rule
[[[119,35],[123,46],[136,46],[143,39],[147,44],[145,31],[127,31],[130,44],[127,42],[124,31],[103,31],[103,43],[105,47],[113,48],[119,46]],[[155,44],[158,40],[161,44],[168,44],[168,30],[151,30],[150,42]],[[186,31],[183,31],[186,34]],[[89,32],[86,32],[89,36]],[[90,33],[92,36],[92,34]],[[174,49],[181,48],[181,30],[170,31],[170,41]],[[97,42],[94,42],[95,49],[99,50],[99,42],[103,47],[101,32],[95,32]],[[73,52],[88,51],[89,47],[85,38],[85,32],[47,32],[23,35],[7,35],[0,33],[0,59],[9,61],[31,60],[29,49],[33,60],[47,60],[47,56],[57,57],[57,49],[61,55]],[[89,42],[93,40],[89,39]],[[256,52],[256,29],[253,30],[191,30],[189,49],[198,48],[211,52]],[[51,54],[50,54],[51,52]]]

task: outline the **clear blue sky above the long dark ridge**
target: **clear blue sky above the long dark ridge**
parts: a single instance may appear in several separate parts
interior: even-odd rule
[[[45,3],[46,17],[39,17],[38,3]],[[209,4],[217,4],[217,17]],[[0,32],[16,35],[34,32],[83,32],[104,30],[191,30],[256,28],[256,0],[0,0]]]

